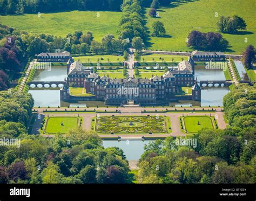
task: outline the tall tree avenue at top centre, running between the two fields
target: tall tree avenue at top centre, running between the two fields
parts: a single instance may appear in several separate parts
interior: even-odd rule
[[[123,16],[119,23],[119,38],[126,39],[129,43],[136,37],[140,37],[145,41],[147,32],[140,2],[137,0],[124,0],[121,9]]]

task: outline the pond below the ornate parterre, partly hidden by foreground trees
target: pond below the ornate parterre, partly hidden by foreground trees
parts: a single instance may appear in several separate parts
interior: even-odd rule
[[[137,161],[144,153],[144,145],[153,142],[153,140],[103,140],[103,145],[107,147],[119,147],[124,151],[126,159]]]

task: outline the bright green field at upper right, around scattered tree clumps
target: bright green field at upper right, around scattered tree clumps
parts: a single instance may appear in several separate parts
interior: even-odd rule
[[[201,32],[217,31],[217,21],[221,15],[238,15],[245,19],[247,30],[240,34],[223,34],[230,42],[233,53],[241,53],[248,44],[256,45],[256,2],[255,0],[199,0],[194,2],[174,2],[158,10],[160,18],[151,18],[146,10],[147,27],[152,31],[152,23],[164,23],[166,37],[151,37],[147,48],[151,50],[192,51],[186,46],[186,37],[192,30]],[[218,13],[218,17],[215,17]],[[247,38],[248,43],[245,43]]]

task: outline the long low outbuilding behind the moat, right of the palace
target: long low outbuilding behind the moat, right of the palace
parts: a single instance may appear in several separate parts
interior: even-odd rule
[[[222,52],[199,52],[193,51],[191,58],[194,61],[225,61],[225,54]]]

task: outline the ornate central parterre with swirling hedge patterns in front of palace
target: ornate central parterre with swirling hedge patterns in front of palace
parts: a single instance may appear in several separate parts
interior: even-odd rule
[[[165,116],[103,116],[92,120],[98,134],[166,134],[171,132]]]

